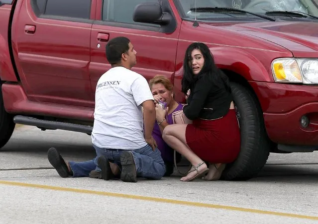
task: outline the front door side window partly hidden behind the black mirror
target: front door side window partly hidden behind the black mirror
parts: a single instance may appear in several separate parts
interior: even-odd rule
[[[124,22],[130,24],[143,24],[160,26],[156,24],[135,22],[132,19],[133,11],[140,3],[159,3],[158,0],[104,0],[102,20],[112,22]]]

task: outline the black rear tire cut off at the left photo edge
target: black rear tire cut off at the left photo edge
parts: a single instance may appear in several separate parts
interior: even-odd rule
[[[0,86],[0,149],[9,141],[15,124],[12,115],[8,114],[3,105],[2,88]]]

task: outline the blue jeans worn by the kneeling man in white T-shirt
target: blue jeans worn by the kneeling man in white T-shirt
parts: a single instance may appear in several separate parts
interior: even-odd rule
[[[105,156],[110,162],[120,164],[120,155],[122,152],[128,150],[118,149],[101,149],[93,144],[96,150],[97,158]],[[137,177],[143,177],[147,179],[160,180],[166,172],[166,166],[161,158],[160,151],[156,148],[152,150],[150,145],[146,145],[140,149],[129,150],[132,153]],[[97,165],[97,161],[95,161]]]

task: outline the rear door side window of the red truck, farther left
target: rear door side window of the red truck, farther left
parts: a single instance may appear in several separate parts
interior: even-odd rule
[[[89,19],[92,0],[35,0],[39,13]]]

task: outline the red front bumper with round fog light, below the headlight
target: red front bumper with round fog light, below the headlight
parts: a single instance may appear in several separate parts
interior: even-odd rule
[[[250,82],[269,138],[278,144],[318,146],[318,86]],[[303,127],[301,118],[309,118]],[[318,147],[317,147],[318,148]]]

